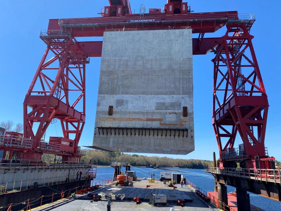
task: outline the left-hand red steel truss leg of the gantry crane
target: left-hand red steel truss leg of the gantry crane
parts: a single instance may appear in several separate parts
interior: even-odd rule
[[[64,137],[74,139],[76,149],[85,124],[86,63],[87,56],[74,38],[47,40],[23,103],[24,136],[35,140],[35,150],[53,118],[61,121]]]

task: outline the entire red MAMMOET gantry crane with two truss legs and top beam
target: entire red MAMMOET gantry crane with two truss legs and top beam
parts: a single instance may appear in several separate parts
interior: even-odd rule
[[[215,54],[213,82],[213,127],[220,152],[220,167],[273,168],[274,158],[265,149],[265,129],[268,99],[250,34],[254,14],[237,11],[194,13],[182,0],[168,0],[165,8],[144,6],[132,13],[128,0],[109,0],[98,18],[50,19],[48,30],[40,38],[47,48],[23,103],[23,140],[32,142],[23,159],[40,159],[61,138],[49,142],[42,136],[52,121],[61,122],[64,139],[72,146],[63,155],[64,161],[81,156],[78,142],[85,125],[86,64],[89,57],[100,57],[102,41],[78,42],[76,37],[103,36],[106,31],[169,30],[191,28],[198,34],[193,38],[193,55]],[[226,28],[222,37],[204,38]],[[243,144],[234,142],[239,133]],[[23,142],[22,142],[23,143]],[[2,147],[2,146],[1,146]],[[11,146],[13,147],[13,146]],[[48,148],[49,147],[49,148]]]

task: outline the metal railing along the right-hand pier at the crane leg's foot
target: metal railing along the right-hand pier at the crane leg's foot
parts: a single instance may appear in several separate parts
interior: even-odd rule
[[[281,184],[280,169],[208,168],[205,172]]]

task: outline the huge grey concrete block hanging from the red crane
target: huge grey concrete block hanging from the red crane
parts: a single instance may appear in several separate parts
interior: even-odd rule
[[[192,71],[191,29],[105,32],[93,147],[113,152],[192,152]],[[115,135],[112,129],[120,127],[132,128],[133,135]],[[139,135],[138,128],[145,135]],[[160,135],[163,129],[167,131]]]

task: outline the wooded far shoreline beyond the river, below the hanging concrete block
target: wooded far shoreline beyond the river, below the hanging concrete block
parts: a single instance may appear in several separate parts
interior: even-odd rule
[[[86,155],[81,158],[82,162],[92,160],[92,164],[110,165],[111,162],[127,162],[132,166],[159,166],[177,167],[190,169],[205,169],[211,167],[213,161],[197,159],[173,159],[158,156],[143,156],[137,154],[124,154],[116,152],[103,152],[98,150],[87,150]]]

